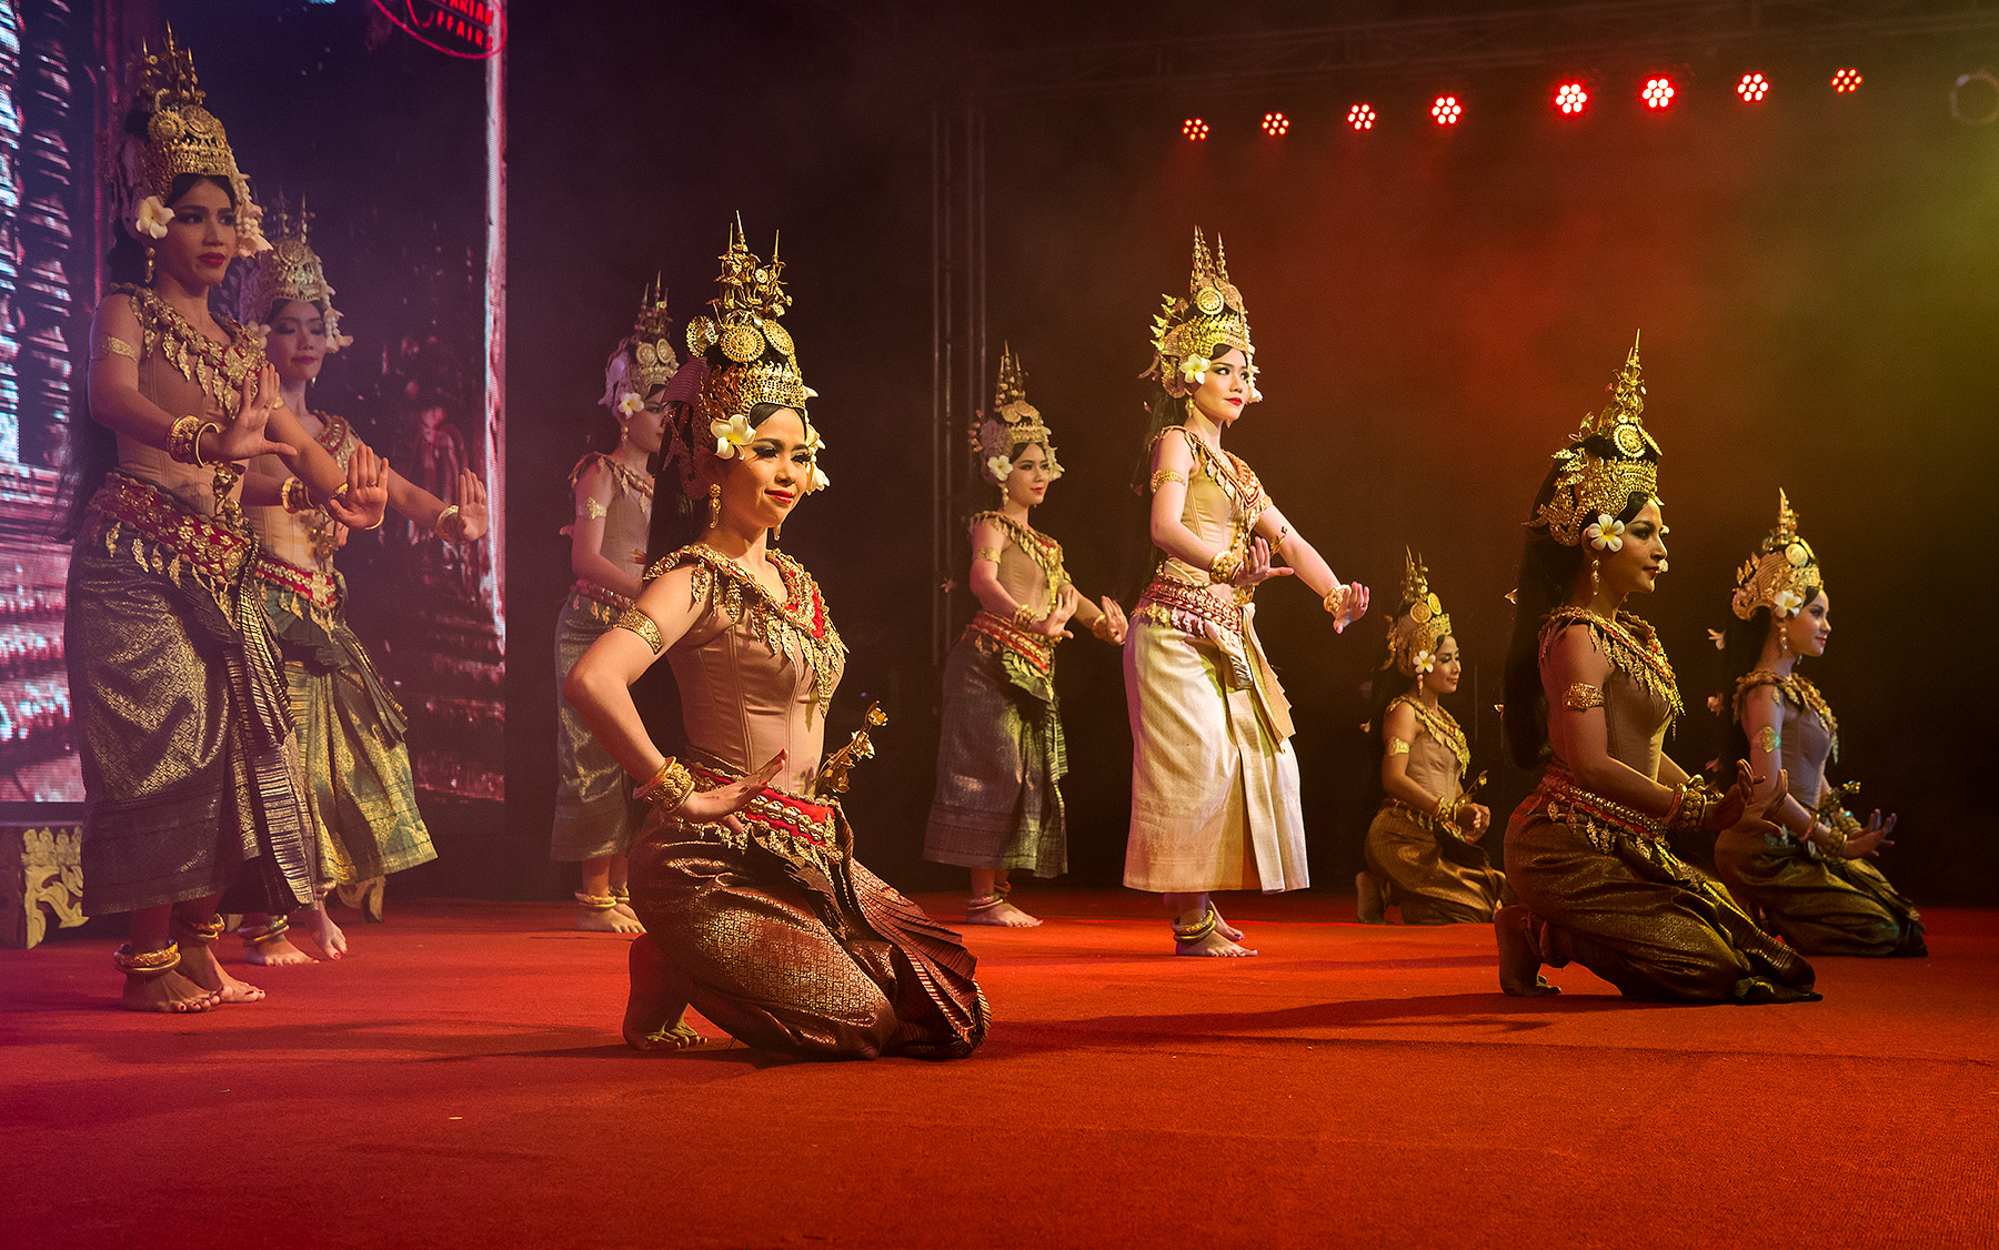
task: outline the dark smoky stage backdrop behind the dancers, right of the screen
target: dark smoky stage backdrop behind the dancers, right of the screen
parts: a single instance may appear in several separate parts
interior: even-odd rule
[[[904,887],[960,879],[920,861],[936,751],[930,102],[968,72],[940,46],[1135,28],[1039,6],[982,8],[948,30],[858,12],[514,14],[514,663],[496,853],[520,861],[524,889],[558,885],[540,863],[554,789],[542,657],[570,581],[556,535],[564,477],[588,443],[610,445],[600,367],[640,286],[664,270],[676,319],[698,312],[738,210],[760,254],[784,232],[788,323],[824,395],[814,419],[834,489],[804,505],[784,545],[820,575],[854,645],[832,723],[844,737],[864,695],[886,697],[894,717],[850,803],[862,853]],[[1149,6],[1149,30],[1193,34],[1199,12]],[[1503,763],[1491,713],[1519,521],[1547,455],[1603,403],[1643,329],[1673,569],[1637,607],[1661,627],[1693,709],[1669,749],[1687,765],[1713,753],[1699,705],[1719,657],[1703,631],[1725,623],[1733,571],[1783,485],[1835,597],[1833,647],[1805,671],[1841,719],[1839,775],[1903,813],[1887,871],[1919,899],[1991,901],[1999,853],[1979,777],[1999,689],[1983,657],[1993,579],[1977,551],[1999,395],[1999,128],[1947,112],[1953,76],[1981,58],[1995,60],[1935,38],[1659,62],[1633,50],[1269,92],[1000,102],[990,329],[1021,353],[1069,467],[1037,525],[1063,539],[1087,593],[1109,589],[1137,525],[1125,479],[1147,323],[1161,292],[1183,290],[1189,228],[1219,230],[1269,395],[1229,445],[1377,603],[1391,605],[1403,543],[1427,555],[1467,657],[1455,713],[1507,809],[1529,785]],[[1843,64],[1867,76],[1849,98],[1827,88]],[[1637,104],[1655,70],[1681,90],[1663,116]],[[1733,94],[1747,70],[1775,84],[1757,108]],[[1593,94],[1579,120],[1547,104],[1563,74]],[[1439,90],[1465,102],[1455,132],[1427,122]],[[1381,114],[1365,136],[1339,124],[1361,98]],[[1255,134],[1267,108],[1293,118],[1289,138]],[[1207,144],[1179,140],[1189,114],[1213,124]],[[1381,617],[1335,637],[1295,585],[1261,603],[1297,705],[1317,883],[1343,891],[1371,811],[1357,725]],[[1115,653],[1087,637],[1065,645],[1059,685],[1073,881],[1115,883],[1129,785]]]

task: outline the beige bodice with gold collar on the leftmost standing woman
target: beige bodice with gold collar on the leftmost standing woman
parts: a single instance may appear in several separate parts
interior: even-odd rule
[[[244,377],[264,367],[264,341],[244,335],[242,327],[216,317],[228,345],[202,337],[178,312],[150,290],[126,292],[132,315],[140,325],[140,343],[118,341],[118,347],[96,343],[94,355],[106,349],[138,357],[138,391],[166,409],[170,417],[196,415],[226,425],[236,413],[236,393]],[[148,481],[204,517],[216,515],[214,467],[184,465],[166,453],[124,433],[118,435],[118,471]],[[234,487],[230,497],[240,497]]]

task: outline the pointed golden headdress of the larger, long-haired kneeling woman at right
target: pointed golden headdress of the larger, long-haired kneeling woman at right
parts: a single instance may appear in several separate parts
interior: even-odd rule
[[[1555,453],[1561,463],[1555,493],[1527,521],[1529,529],[1547,529],[1563,547],[1575,547],[1585,537],[1615,547],[1623,531],[1615,517],[1631,495],[1659,497],[1659,443],[1643,421],[1645,379],[1637,363],[1637,337],[1609,389],[1611,401],[1603,411],[1585,415],[1569,445]],[[1603,439],[1609,447],[1589,447],[1591,439]],[[1611,527],[1615,533],[1591,533]]]

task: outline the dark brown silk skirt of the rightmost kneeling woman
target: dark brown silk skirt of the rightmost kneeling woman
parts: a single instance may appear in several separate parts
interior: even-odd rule
[[[1715,843],[1721,879],[1805,954],[1927,954],[1923,921],[1863,859],[1813,859],[1789,839],[1735,829]]]

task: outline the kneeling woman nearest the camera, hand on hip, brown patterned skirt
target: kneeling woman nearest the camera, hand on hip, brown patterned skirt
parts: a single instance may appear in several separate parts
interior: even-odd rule
[[[632,849],[648,933],[632,942],[624,1036],[640,1050],[694,1044],[692,1004],[764,1050],[956,1058],[986,1036],[974,958],[854,859],[838,793],[872,747],[856,735],[820,759],[848,649],[812,575],[768,545],[826,487],[780,274],[740,226],[730,234],[716,315],[688,323],[694,359],[672,385],[660,471],[706,527],[646,571],[638,605],[566,689],[654,807]],[[660,753],[632,705],[662,653],[688,763]]]

